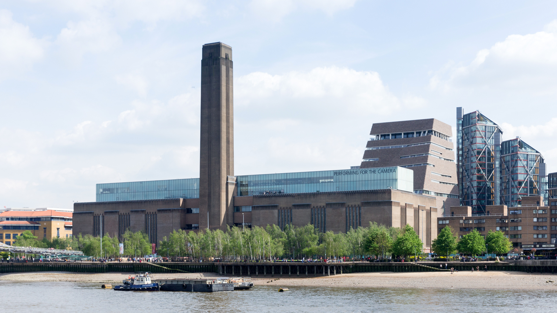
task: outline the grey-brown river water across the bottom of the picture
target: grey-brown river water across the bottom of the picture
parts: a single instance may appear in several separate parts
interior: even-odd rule
[[[0,281],[2,312],[554,312],[556,291],[255,286],[229,292],[124,292],[100,283]]]

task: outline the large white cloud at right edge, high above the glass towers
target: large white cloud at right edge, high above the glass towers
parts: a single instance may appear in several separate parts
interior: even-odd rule
[[[477,52],[468,65],[447,63],[429,86],[455,90],[520,90],[555,95],[557,84],[557,20],[545,31],[510,35]]]

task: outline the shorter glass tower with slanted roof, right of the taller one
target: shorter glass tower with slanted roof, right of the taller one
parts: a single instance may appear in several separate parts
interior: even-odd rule
[[[501,204],[521,205],[521,198],[529,195],[547,196],[544,157],[520,138],[501,143]]]

